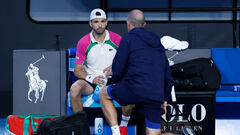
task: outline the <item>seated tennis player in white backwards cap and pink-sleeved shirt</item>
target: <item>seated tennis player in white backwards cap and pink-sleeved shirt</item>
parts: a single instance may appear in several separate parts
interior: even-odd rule
[[[106,30],[107,24],[108,20],[102,9],[92,10],[89,21],[92,31],[78,42],[74,75],[79,80],[70,88],[74,112],[83,109],[81,96],[92,94],[96,85],[104,83],[105,73],[112,70],[112,61],[119,47],[121,36]],[[123,110],[123,114],[130,117],[131,112]],[[124,121],[128,123],[128,120]]]

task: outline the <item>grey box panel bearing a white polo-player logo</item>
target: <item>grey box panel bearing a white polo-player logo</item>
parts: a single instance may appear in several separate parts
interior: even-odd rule
[[[66,52],[13,51],[13,114],[66,112]]]

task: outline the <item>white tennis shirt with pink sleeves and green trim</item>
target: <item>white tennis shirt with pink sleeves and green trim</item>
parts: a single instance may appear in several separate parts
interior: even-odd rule
[[[77,44],[75,64],[84,65],[88,75],[103,75],[103,70],[112,65],[120,40],[120,35],[106,30],[103,43],[99,43],[92,32],[88,33]]]

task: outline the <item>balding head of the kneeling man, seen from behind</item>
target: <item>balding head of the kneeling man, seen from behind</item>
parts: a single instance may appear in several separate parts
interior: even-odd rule
[[[127,20],[134,27],[143,27],[143,24],[145,23],[145,16],[142,11],[134,9],[128,14]]]

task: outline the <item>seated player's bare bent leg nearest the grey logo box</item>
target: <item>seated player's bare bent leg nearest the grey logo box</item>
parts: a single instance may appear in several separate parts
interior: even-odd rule
[[[89,95],[93,93],[93,87],[85,80],[77,80],[70,88],[71,91],[71,105],[74,112],[82,111],[82,95]]]

